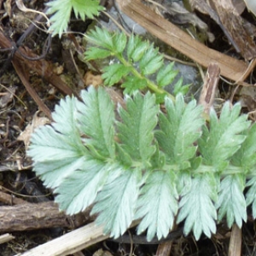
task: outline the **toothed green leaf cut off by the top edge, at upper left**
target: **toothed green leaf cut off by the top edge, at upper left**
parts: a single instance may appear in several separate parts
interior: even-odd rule
[[[61,34],[67,31],[67,24],[72,11],[76,18],[80,17],[85,20],[86,17],[93,19],[104,9],[98,0],[53,0],[46,5],[49,6],[47,14],[52,15],[49,19],[51,22],[49,32],[53,36],[58,34],[60,38]]]

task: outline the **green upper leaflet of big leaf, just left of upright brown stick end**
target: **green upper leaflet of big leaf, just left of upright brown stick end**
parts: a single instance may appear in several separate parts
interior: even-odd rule
[[[188,160],[195,156],[194,143],[201,135],[202,108],[195,101],[186,105],[178,95],[175,103],[166,97],[166,112],[160,113],[160,131],[155,137],[172,164],[189,167]]]

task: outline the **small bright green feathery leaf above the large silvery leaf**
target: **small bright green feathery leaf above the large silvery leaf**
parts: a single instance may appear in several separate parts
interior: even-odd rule
[[[148,88],[154,91],[159,102],[163,102],[166,95],[173,99],[163,88],[172,84],[178,71],[173,69],[173,62],[164,64],[163,55],[160,55],[153,44],[138,36],[131,35],[127,38],[123,32],[111,33],[99,27],[85,37],[96,45],[86,50],[85,60],[104,59],[108,56],[116,58],[116,62],[102,70],[105,85],[111,86],[122,80],[121,86],[125,88],[125,94]],[[150,75],[154,73],[156,78],[153,80]],[[182,79],[179,79],[174,85],[176,94],[188,91],[189,85],[182,84]]]

